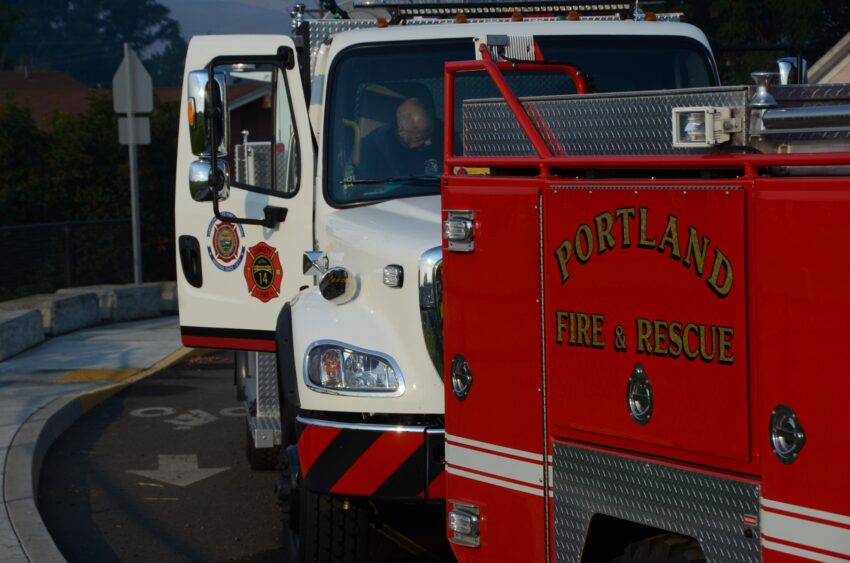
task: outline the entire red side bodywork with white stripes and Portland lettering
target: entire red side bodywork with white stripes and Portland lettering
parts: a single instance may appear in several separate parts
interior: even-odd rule
[[[449,176],[444,208],[475,213],[474,251],[444,249],[443,270],[446,373],[462,354],[474,376],[463,401],[446,386],[447,498],[481,507],[481,546],[454,546],[460,560],[557,560],[552,483],[530,482],[553,444],[752,482],[761,512],[742,518],[764,561],[850,560],[850,181]],[[643,425],[626,400],[637,363],[655,396]],[[807,434],[790,464],[768,436],[780,404]]]

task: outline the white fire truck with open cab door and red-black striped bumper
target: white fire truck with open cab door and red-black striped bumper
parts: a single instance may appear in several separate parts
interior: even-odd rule
[[[532,71],[507,78],[520,95],[718,85],[702,32],[628,2],[365,4],[296,12],[292,37],[195,37],[184,75],[182,339],[243,352],[249,457],[271,466],[282,452],[301,560],[362,558],[371,500],[445,498],[444,63],[482,43],[506,61],[534,54]],[[497,94],[470,69],[450,105]],[[411,99],[430,116],[425,150],[389,173],[398,163],[373,166],[370,147],[380,134],[401,143]],[[467,135],[445,133],[458,147]],[[492,313],[506,310],[501,278],[519,259],[503,258],[477,278],[478,297],[499,295]],[[482,336],[514,334],[515,319],[497,317]]]

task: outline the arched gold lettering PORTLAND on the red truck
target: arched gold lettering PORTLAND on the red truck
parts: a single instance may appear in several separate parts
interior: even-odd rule
[[[729,295],[735,278],[732,262],[726,254],[717,245],[712,245],[711,239],[701,235],[693,225],[688,225],[685,236],[680,232],[679,218],[675,215],[667,215],[660,237],[657,233],[650,233],[649,215],[648,207],[623,207],[614,210],[614,213],[600,213],[591,221],[580,224],[573,237],[564,239],[555,249],[561,284],[570,279],[569,266],[573,258],[579,264],[586,264],[591,260],[594,249],[596,255],[599,255],[615,250],[618,246],[630,248],[634,243],[637,248],[667,254],[685,268],[692,269],[698,278],[705,277],[705,284],[718,297]],[[637,241],[631,237],[633,222],[638,227]]]

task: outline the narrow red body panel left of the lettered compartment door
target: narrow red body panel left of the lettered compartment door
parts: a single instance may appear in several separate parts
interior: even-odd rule
[[[504,179],[485,194],[472,180],[444,193],[444,207],[476,209],[482,228],[488,225],[475,252],[443,254],[443,303],[451,311],[443,328],[445,373],[460,351],[474,362],[469,396],[446,401],[446,499],[486,505],[486,539],[469,550],[469,560],[541,561],[548,497],[537,251],[542,183]],[[536,422],[516,424],[519,413]]]

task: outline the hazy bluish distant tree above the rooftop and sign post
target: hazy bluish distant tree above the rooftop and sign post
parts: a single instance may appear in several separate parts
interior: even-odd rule
[[[185,52],[180,24],[156,0],[0,0],[21,17],[14,25],[8,56],[19,64],[67,72],[90,86],[109,86],[124,56],[123,44],[168,63],[156,72],[174,85],[177,54]],[[0,5],[2,6],[2,5]],[[181,61],[182,66],[182,61]]]

